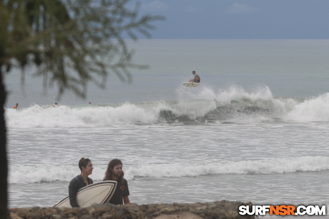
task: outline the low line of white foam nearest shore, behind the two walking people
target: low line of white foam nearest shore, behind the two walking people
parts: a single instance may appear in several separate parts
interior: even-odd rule
[[[95,167],[90,176],[103,180],[106,167]],[[194,177],[207,174],[275,174],[329,169],[329,157],[269,158],[219,163],[165,163],[125,166],[125,179],[137,177]],[[10,166],[9,183],[69,182],[80,174],[76,166]]]

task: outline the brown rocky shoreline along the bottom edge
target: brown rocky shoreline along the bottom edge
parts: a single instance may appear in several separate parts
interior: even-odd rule
[[[8,209],[9,219],[254,219],[254,215],[240,215],[241,205],[251,202],[226,200],[193,204],[94,205],[86,208],[29,207]]]

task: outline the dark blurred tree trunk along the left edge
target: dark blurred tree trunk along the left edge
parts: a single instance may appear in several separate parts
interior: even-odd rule
[[[7,153],[6,153],[6,124],[4,105],[6,91],[2,80],[2,63],[0,62],[0,219],[7,219]]]

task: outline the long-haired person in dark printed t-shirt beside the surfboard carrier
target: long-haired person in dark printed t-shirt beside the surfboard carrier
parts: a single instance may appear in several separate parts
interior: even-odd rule
[[[117,182],[116,189],[109,203],[114,205],[129,204],[129,189],[127,180],[123,179],[122,162],[119,159],[113,159],[109,162],[105,172],[104,180],[114,180]]]

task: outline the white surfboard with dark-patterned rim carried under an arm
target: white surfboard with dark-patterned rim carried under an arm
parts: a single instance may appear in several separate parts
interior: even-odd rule
[[[107,180],[87,185],[77,192],[79,207],[89,207],[93,204],[104,204],[110,201],[116,188],[116,181]],[[69,196],[63,198],[54,207],[72,207]]]

